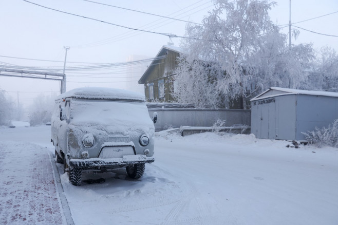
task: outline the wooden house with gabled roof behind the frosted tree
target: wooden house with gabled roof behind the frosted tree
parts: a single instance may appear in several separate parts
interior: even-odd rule
[[[171,91],[175,89],[175,69],[177,57],[182,49],[165,45],[157,53],[156,59],[148,66],[139,80],[144,84],[144,93],[148,102],[172,102]]]

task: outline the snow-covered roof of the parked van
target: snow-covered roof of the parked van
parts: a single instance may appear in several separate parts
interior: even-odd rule
[[[129,100],[145,101],[145,96],[141,93],[107,87],[81,87],[62,93],[56,99],[65,98],[79,99],[108,99],[108,100]]]

